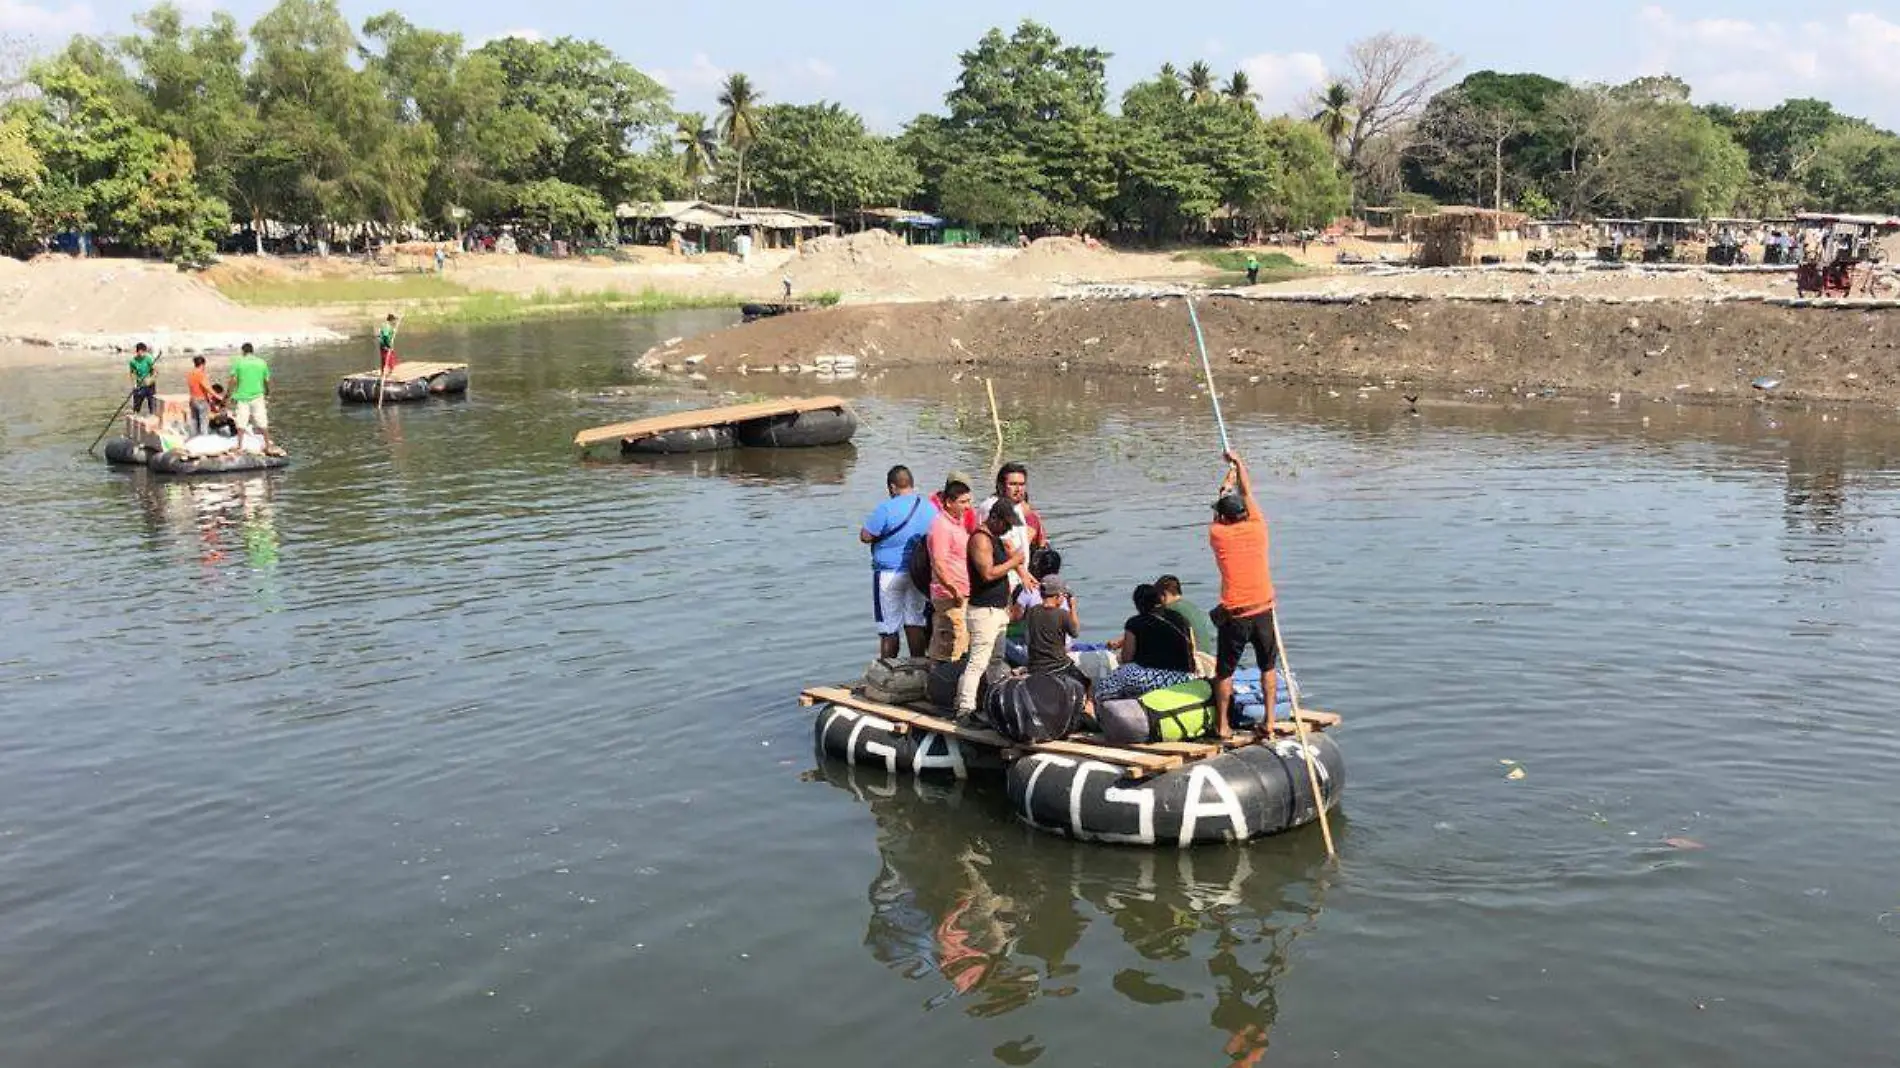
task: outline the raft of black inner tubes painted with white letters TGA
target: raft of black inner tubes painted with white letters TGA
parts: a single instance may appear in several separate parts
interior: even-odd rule
[[[1244,677],[1237,677],[1237,690],[1244,692]],[[1252,682],[1258,711],[1258,673]],[[935,678],[929,686],[940,688]],[[817,707],[817,749],[893,775],[1001,777],[1011,808],[1030,827],[1085,842],[1186,848],[1264,838],[1315,823],[1320,806],[1338,808],[1345,789],[1345,760],[1326,734],[1340,716],[1302,711],[1302,743],[1290,703],[1275,713],[1271,735],[1237,730],[1227,743],[1112,745],[1081,732],[1020,743],[952,722],[927,699],[878,699],[899,690],[870,677],[855,688],[806,690],[800,701]],[[1246,713],[1239,696],[1237,711]],[[1320,796],[1307,777],[1309,753]]]

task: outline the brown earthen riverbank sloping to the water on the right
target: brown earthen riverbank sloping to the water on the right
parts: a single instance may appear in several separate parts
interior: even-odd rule
[[[1759,397],[1900,405],[1900,310],[1767,302],[1197,300],[1216,376],[1486,393]],[[842,306],[764,319],[646,355],[699,371],[796,372],[825,353],[885,367],[1150,374],[1201,367],[1178,296]]]

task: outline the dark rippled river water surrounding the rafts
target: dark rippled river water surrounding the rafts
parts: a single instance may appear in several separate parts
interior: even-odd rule
[[[1132,851],[811,753],[884,469],[990,464],[973,378],[838,386],[844,450],[574,456],[722,321],[418,333],[473,391],[384,412],[367,344],[279,353],[294,464],[207,481],[84,456],[112,361],[10,374],[0,1060],[1892,1057],[1890,416],[1237,386],[1341,861]],[[999,388],[1085,629],[1214,599],[1186,382]]]

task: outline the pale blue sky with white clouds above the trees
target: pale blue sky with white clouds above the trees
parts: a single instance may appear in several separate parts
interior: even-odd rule
[[[124,32],[137,0],[0,0],[0,34],[55,48],[72,32]],[[224,8],[245,25],[268,0],[182,0]],[[1459,70],[1531,70],[1575,82],[1676,74],[1697,103],[1771,106],[1820,97],[1900,129],[1900,0],[1792,6],[1769,0],[1264,0],[1157,6],[1132,0],[678,0],[606,6],[581,0],[344,0],[357,25],[397,8],[412,23],[494,36],[595,38],[674,93],[684,110],[714,112],[714,86],[743,70],[768,103],[840,101],[880,131],[939,110],[958,53],[984,30],[1024,17],[1070,44],[1112,53],[1110,89],[1161,63],[1208,61],[1246,70],[1269,112],[1298,110],[1338,72],[1345,48],[1381,30],[1421,34],[1461,59]],[[1157,19],[1157,15],[1161,15]]]

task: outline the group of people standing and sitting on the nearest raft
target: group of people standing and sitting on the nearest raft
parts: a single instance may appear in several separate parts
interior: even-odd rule
[[[1174,576],[1134,587],[1134,616],[1106,642],[1119,667],[1092,682],[1092,701],[1142,694],[1212,677],[1214,734],[1231,737],[1233,675],[1248,648],[1260,663],[1262,692],[1275,692],[1279,646],[1267,521],[1246,464],[1222,456],[1227,471],[1214,496],[1208,547],[1220,570],[1220,604],[1203,612],[1182,597]],[[910,467],[885,475],[887,498],[859,530],[870,545],[872,614],[882,658],[965,661],[958,678],[960,722],[977,716],[982,678],[1009,659],[1028,675],[1075,675],[1091,686],[1072,652],[1081,637],[1075,591],[1060,576],[1041,515],[1030,505],[1030,473],[1003,464],[996,492],[973,504],[969,477],[952,471],[923,496]],[[1013,640],[1015,639],[1015,640]],[[1015,654],[1015,656],[1009,656]],[[967,658],[967,659],[965,659]],[[1265,711],[1271,730],[1271,699]]]

